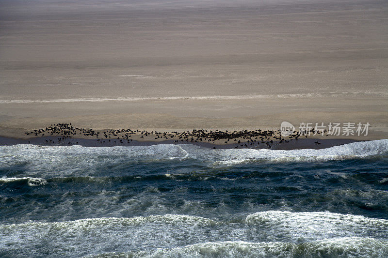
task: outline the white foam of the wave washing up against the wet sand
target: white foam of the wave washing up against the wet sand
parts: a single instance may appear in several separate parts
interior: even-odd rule
[[[354,142],[326,149],[253,150],[210,149],[191,144],[153,146],[0,146],[1,167],[28,167],[24,176],[60,177],[92,175],[102,167],[124,166],[130,162],[196,159],[212,167],[250,162],[315,162],[366,158],[388,154],[388,139]],[[123,165],[124,164],[124,165]],[[87,172],[87,173],[86,173]]]

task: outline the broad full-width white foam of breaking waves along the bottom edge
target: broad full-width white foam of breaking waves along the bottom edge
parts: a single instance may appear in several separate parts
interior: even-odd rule
[[[0,225],[0,249],[53,257],[69,246],[75,256],[93,250],[108,257],[371,257],[388,254],[387,235],[387,220],[330,212],[257,212],[230,221],[166,214]],[[149,249],[155,246],[164,248]]]

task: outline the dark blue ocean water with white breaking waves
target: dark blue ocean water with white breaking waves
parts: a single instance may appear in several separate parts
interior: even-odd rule
[[[388,139],[0,146],[0,257],[388,257]]]

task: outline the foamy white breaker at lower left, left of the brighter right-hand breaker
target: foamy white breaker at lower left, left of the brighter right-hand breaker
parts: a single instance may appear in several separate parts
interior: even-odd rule
[[[211,219],[175,214],[8,224],[0,225],[0,252],[15,250],[21,257],[59,257],[71,247],[73,256],[80,257],[90,250],[102,253],[112,248],[176,246],[199,241],[215,226],[217,222]],[[215,230],[214,234],[219,232]],[[55,240],[55,244],[49,240]]]

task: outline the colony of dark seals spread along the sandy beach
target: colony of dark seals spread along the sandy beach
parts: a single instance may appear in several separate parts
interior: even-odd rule
[[[85,138],[96,139],[103,145],[106,141],[110,143],[130,143],[133,139],[138,141],[164,141],[171,140],[173,143],[197,143],[206,142],[213,144],[235,144],[235,149],[238,148],[257,148],[261,144],[265,148],[271,149],[274,141],[279,143],[288,143],[292,140],[297,140],[299,137],[309,135],[324,136],[327,131],[317,132],[312,128],[309,131],[297,132],[294,131],[288,137],[282,137],[280,130],[242,130],[242,131],[220,131],[220,130],[205,130],[194,129],[193,131],[183,132],[158,132],[146,130],[132,129],[106,129],[94,130],[92,128],[79,128],[71,123],[51,124],[46,128],[27,131],[24,134],[29,137],[44,137],[52,136],[54,139],[46,139],[48,144],[78,144],[78,141],[70,140],[70,138]],[[327,136],[327,135],[326,135]],[[68,141],[68,142],[67,142]],[[30,141],[28,141],[30,143]],[[316,141],[315,144],[320,144]],[[216,147],[213,147],[214,149]]]

